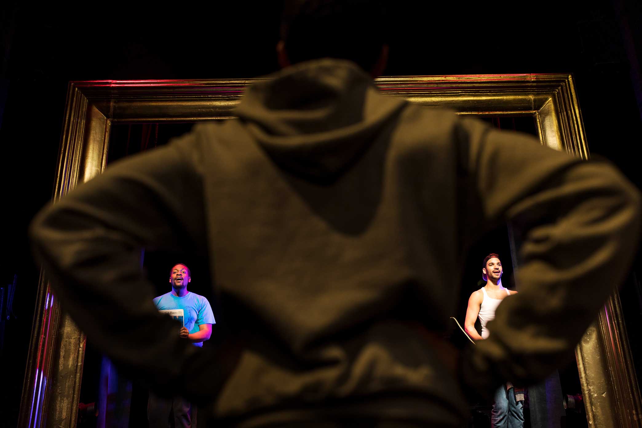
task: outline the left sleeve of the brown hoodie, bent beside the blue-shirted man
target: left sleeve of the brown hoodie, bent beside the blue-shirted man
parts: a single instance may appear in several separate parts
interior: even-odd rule
[[[30,226],[56,297],[92,344],[168,391],[184,390],[203,357],[157,312],[141,248],[207,251],[196,142],[193,132],[115,162],[45,207]]]

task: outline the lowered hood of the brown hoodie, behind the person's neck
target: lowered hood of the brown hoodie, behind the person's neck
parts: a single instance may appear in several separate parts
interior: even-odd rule
[[[356,64],[296,64],[249,87],[235,110],[282,169],[334,180],[365,151],[406,101],[384,96]]]

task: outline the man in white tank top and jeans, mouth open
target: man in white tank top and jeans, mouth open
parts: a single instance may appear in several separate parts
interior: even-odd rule
[[[468,309],[464,329],[474,340],[486,339],[489,336],[487,323],[495,318],[495,311],[501,301],[517,291],[510,291],[501,285],[501,261],[499,255],[490,253],[486,256],[482,265],[482,278],[486,285],[476,290],[468,299]],[[475,329],[475,321],[480,319],[482,324],[482,335]],[[492,427],[522,428],[524,426],[523,402],[517,401],[515,389],[500,386],[495,392],[494,404],[492,405],[491,423]]]

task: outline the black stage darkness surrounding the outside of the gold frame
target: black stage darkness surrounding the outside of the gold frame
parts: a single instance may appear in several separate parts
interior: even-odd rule
[[[67,82],[249,78],[275,71],[280,3],[222,3],[180,9],[181,4],[41,6],[8,0],[0,6],[0,142],[8,166],[3,175],[2,285],[17,275],[13,313],[3,320],[0,427],[17,422],[39,278],[26,228],[51,198]],[[573,73],[589,150],[609,158],[641,187],[634,156],[642,142],[638,1],[421,3],[427,4],[390,2],[386,75]],[[500,251],[507,264],[507,244],[501,244],[505,238],[497,236],[498,245],[506,246]],[[483,259],[488,251],[482,247],[470,255],[464,294],[477,287],[481,259],[474,252]],[[166,263],[161,259],[159,266]],[[622,291],[638,361],[640,268],[638,261]],[[154,278],[159,287],[166,285],[164,276]],[[196,292],[206,288],[201,278],[194,280]],[[642,367],[637,369],[639,377]]]

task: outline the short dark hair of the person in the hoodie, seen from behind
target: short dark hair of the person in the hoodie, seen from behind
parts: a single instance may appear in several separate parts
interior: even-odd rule
[[[342,58],[371,71],[388,41],[380,0],[285,0],[281,40],[292,64]]]

